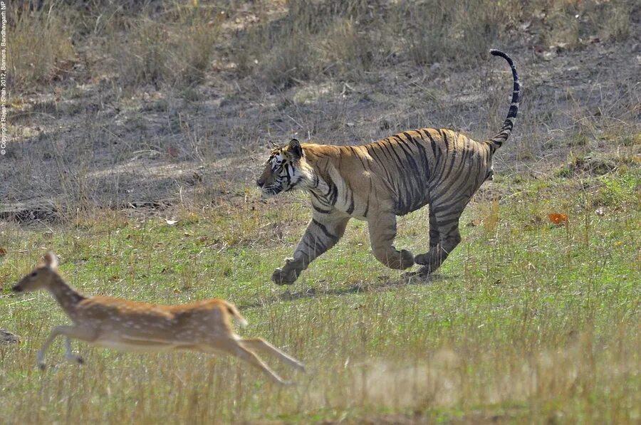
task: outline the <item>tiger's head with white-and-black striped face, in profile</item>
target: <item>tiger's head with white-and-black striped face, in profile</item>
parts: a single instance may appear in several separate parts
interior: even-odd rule
[[[301,142],[292,139],[288,145],[276,146],[271,151],[256,185],[263,194],[271,196],[292,189],[303,189],[310,180],[310,166]]]

